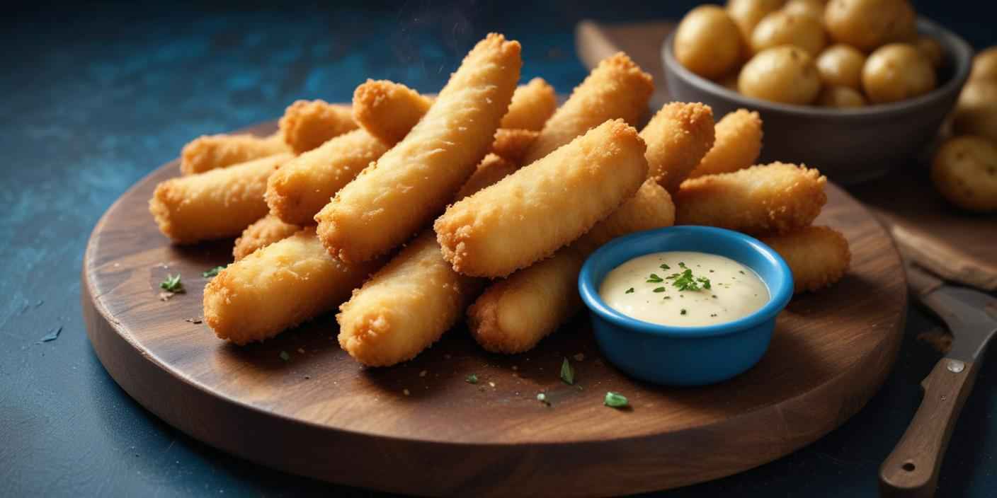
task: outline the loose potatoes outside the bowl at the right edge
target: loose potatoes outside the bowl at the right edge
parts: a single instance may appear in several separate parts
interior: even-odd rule
[[[997,211],[997,47],[973,58],[952,131],[931,162],[935,187],[963,209]]]

